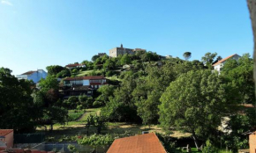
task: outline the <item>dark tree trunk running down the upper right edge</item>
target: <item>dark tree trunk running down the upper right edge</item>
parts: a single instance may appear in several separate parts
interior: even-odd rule
[[[247,0],[247,5],[250,11],[250,17],[252,21],[252,32],[253,32],[253,41],[254,41],[254,52],[253,52],[253,61],[254,61],[254,84],[255,84],[255,96],[256,96],[256,0]],[[255,100],[256,106],[256,100]],[[255,110],[256,111],[256,110]]]

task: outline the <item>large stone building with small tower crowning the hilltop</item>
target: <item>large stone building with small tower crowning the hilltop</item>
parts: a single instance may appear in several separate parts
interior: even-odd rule
[[[126,48],[123,47],[123,44],[121,44],[121,47],[114,47],[112,49],[109,50],[109,57],[118,57],[118,55],[135,55],[136,52],[138,51],[144,51],[146,52],[146,49],[141,49],[141,48],[135,48],[135,49],[131,49],[131,48]]]

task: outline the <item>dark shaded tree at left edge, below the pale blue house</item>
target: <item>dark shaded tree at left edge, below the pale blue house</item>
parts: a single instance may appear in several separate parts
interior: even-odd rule
[[[0,128],[11,128],[18,133],[34,131],[37,111],[31,86],[30,81],[12,76],[11,69],[0,68]]]

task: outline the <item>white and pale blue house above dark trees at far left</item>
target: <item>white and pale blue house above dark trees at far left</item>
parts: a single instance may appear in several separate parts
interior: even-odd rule
[[[26,80],[32,80],[34,84],[38,83],[41,78],[45,78],[47,76],[47,72],[45,72],[43,69],[37,69],[37,70],[30,70],[26,73],[23,73],[21,75],[17,75],[18,79],[26,79]]]

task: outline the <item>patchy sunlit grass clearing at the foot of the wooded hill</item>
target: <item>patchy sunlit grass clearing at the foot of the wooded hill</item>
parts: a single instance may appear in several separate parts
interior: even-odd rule
[[[65,125],[59,123],[55,124],[53,126],[53,131],[46,132],[47,140],[52,142],[59,142],[64,140],[72,140],[73,137],[76,137],[76,135],[86,135],[86,124],[88,116],[90,114],[99,114],[100,112],[101,108],[86,109],[86,113],[82,114],[79,120],[69,121]],[[74,111],[69,111],[69,113],[74,113]],[[38,127],[37,131],[44,131],[44,127]],[[96,133],[96,131],[97,129],[95,127],[90,127],[89,134],[93,135],[94,133]],[[157,125],[148,127],[145,125],[131,124],[126,122],[109,122],[107,123],[107,128],[102,129],[102,134],[122,135],[128,132],[131,135],[140,135],[142,131],[163,133],[162,128]],[[179,138],[190,136],[190,134],[173,131],[172,135],[170,136]]]

